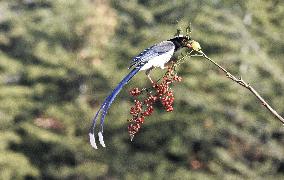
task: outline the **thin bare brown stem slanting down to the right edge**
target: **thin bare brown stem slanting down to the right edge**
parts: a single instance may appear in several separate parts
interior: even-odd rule
[[[262,103],[266,109],[269,110],[270,113],[272,113],[281,123],[284,125],[284,119],[281,117],[259,94],[258,92],[249,84],[246,83],[242,77],[241,78],[236,78],[234,75],[232,75],[230,72],[228,72],[225,68],[220,66],[218,63],[210,59],[206,54],[204,54],[201,50],[199,51],[201,53],[201,56],[204,57],[205,59],[209,60],[211,63],[213,63],[215,66],[217,66],[219,69],[221,69],[227,76],[227,78],[231,79],[232,81],[238,83],[239,85],[247,88],[250,92],[252,92],[256,98]]]

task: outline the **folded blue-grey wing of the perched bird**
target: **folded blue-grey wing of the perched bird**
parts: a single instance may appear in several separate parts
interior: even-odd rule
[[[159,55],[168,53],[175,49],[175,45],[171,41],[162,41],[158,44],[155,44],[144,51],[142,51],[138,56],[134,57],[130,63],[130,67],[143,66],[149,60]]]

